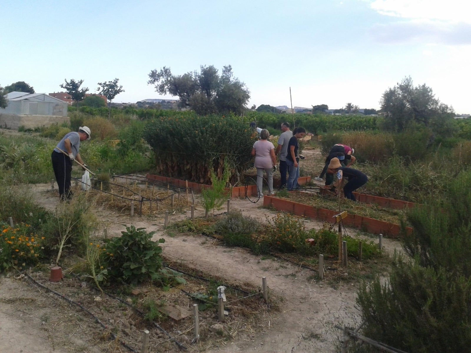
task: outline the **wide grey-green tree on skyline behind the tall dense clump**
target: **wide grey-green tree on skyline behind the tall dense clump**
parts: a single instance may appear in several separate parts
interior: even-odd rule
[[[191,108],[200,115],[214,112],[240,114],[250,98],[244,82],[233,76],[232,67],[224,66],[221,74],[213,66],[200,66],[200,72],[173,75],[171,69],[149,73],[148,84],[160,94],[179,97],[180,108]]]

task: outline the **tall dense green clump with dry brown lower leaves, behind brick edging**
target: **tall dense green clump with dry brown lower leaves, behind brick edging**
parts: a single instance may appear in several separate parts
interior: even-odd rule
[[[147,123],[144,138],[153,148],[156,172],[198,183],[211,183],[211,170],[221,177],[224,160],[231,182],[238,180],[252,156],[251,129],[238,118],[219,115],[160,117]]]

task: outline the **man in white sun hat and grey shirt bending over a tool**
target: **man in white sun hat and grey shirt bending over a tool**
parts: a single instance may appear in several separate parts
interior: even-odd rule
[[[78,132],[72,131],[66,134],[52,151],[52,168],[56,176],[61,200],[70,200],[72,196],[70,193],[70,180],[73,160],[77,160],[84,167],[87,167],[80,157],[79,149],[80,142],[89,140],[90,137],[90,129],[86,126],[80,127]],[[68,156],[61,150],[66,152]]]

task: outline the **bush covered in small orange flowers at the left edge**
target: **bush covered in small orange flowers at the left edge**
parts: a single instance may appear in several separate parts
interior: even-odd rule
[[[0,272],[12,265],[36,265],[42,257],[44,237],[31,233],[31,225],[21,223],[16,228],[1,222]]]

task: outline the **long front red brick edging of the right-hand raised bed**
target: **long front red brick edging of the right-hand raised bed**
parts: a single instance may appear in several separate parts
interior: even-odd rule
[[[272,196],[265,196],[263,198],[263,206],[272,206],[280,211],[293,213],[296,216],[316,218],[326,222],[331,222],[332,217],[338,213],[330,209],[316,209],[304,203],[278,199]],[[370,217],[349,214],[343,219],[343,224],[358,229],[364,229],[368,233],[387,235],[391,238],[397,238],[400,235],[399,225]],[[406,227],[406,229],[407,232],[412,232],[411,227]]]

